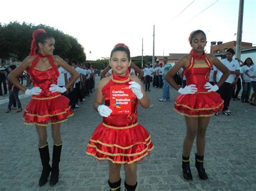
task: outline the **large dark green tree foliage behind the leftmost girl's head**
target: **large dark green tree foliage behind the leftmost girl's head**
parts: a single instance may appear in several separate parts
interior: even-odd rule
[[[64,34],[62,31],[46,25],[10,22],[0,25],[0,58],[16,58],[23,60],[29,55],[32,33],[36,29],[44,29],[55,38],[55,54],[70,60],[84,62],[86,55],[84,47],[76,38]]]

